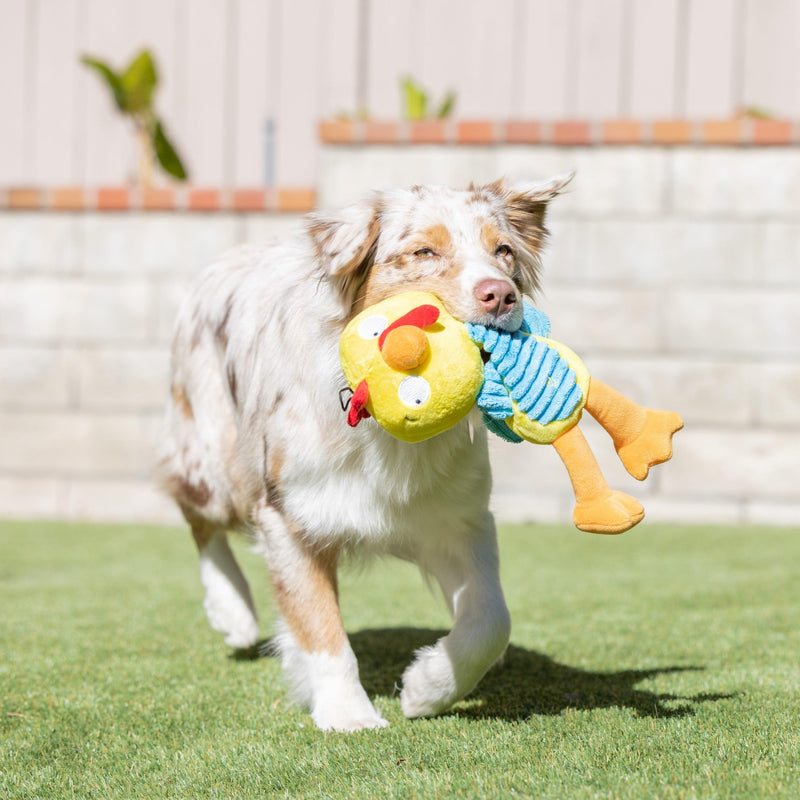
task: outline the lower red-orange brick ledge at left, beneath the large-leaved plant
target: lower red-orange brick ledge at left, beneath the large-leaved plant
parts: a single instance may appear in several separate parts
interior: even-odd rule
[[[308,187],[0,187],[0,210],[11,211],[235,211],[302,214],[313,210],[315,205],[316,191]]]

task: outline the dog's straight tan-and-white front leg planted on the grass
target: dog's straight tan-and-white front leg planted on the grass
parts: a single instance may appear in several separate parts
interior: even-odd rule
[[[294,697],[322,730],[384,727],[361,686],[342,623],[337,553],[310,547],[272,508],[259,518],[281,614],[275,643]]]

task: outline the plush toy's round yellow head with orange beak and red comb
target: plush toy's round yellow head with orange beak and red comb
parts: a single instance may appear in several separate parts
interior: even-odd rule
[[[406,442],[455,425],[483,384],[479,348],[427,292],[395,295],[362,311],[345,328],[339,354],[354,392],[348,422],[371,415]]]

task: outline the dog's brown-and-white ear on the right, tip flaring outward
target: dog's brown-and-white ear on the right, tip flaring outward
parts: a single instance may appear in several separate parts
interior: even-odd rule
[[[566,172],[537,183],[512,185],[497,181],[485,187],[499,197],[516,239],[519,279],[526,294],[533,294],[539,288],[541,254],[548,236],[544,224],[547,204],[563,192],[574,175]]]

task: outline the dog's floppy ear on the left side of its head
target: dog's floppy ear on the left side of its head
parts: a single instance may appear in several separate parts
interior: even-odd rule
[[[331,214],[312,214],[306,229],[325,274],[345,301],[352,302],[375,258],[380,234],[378,194]]]

